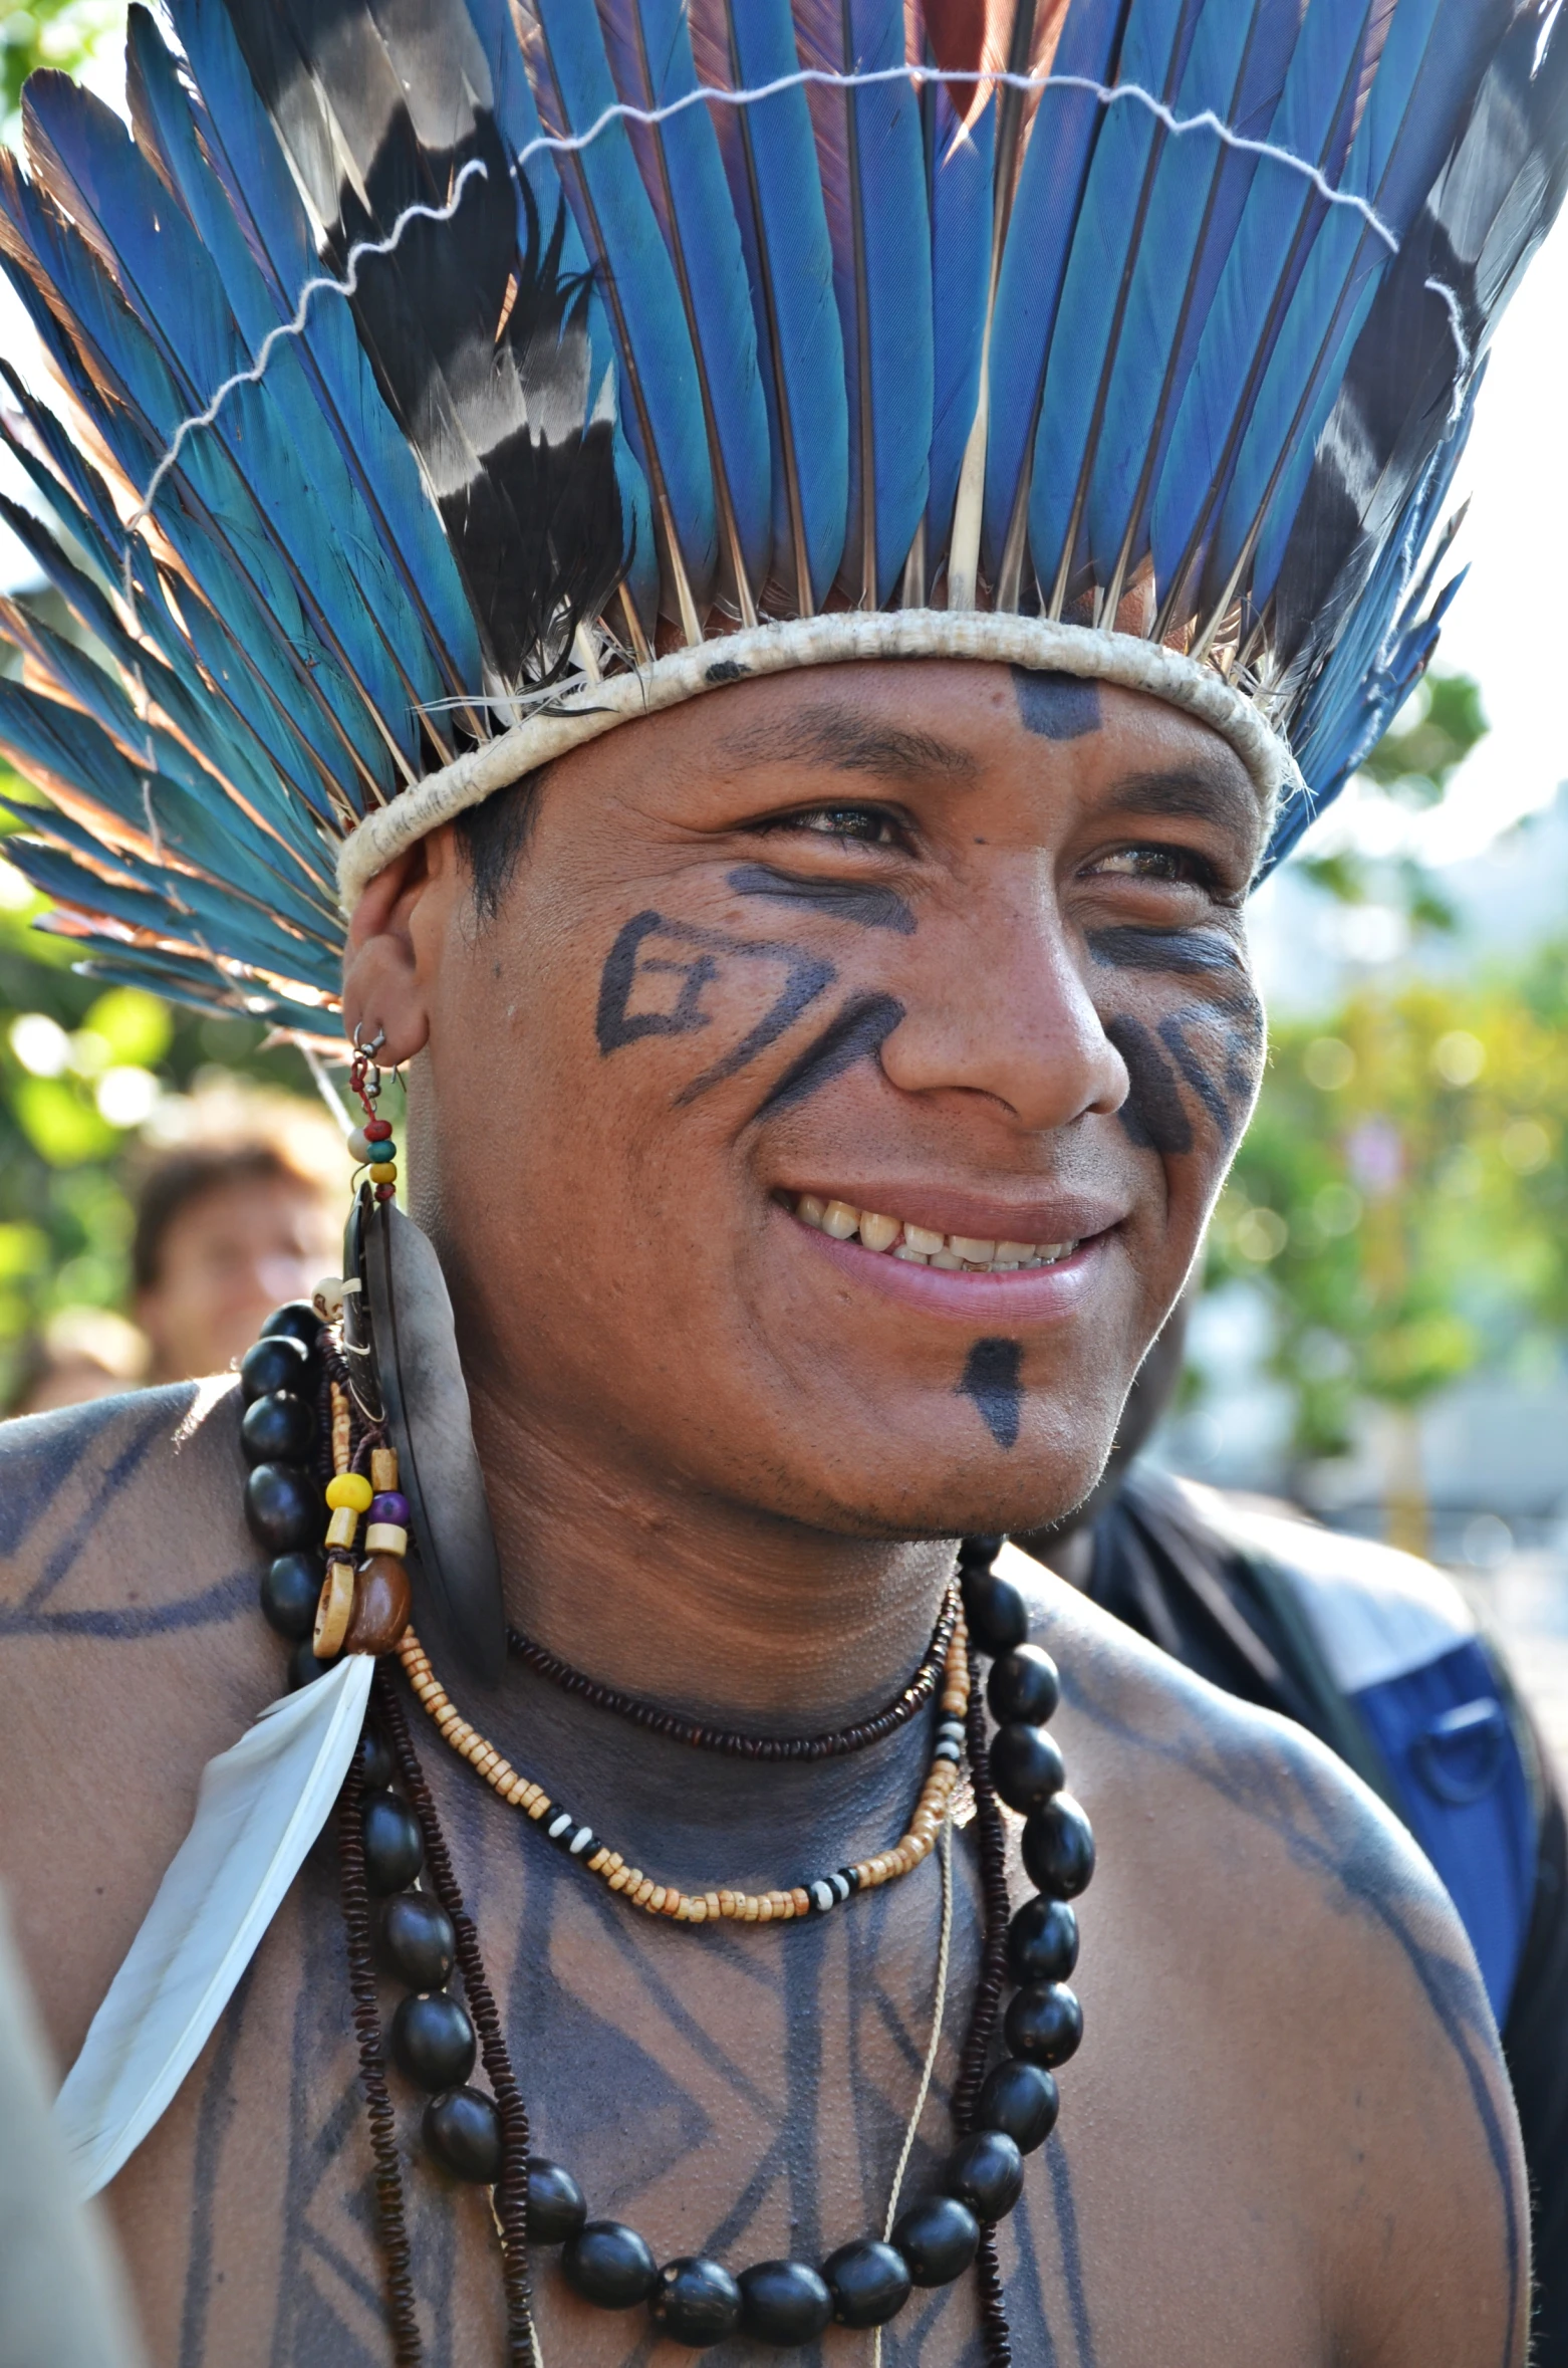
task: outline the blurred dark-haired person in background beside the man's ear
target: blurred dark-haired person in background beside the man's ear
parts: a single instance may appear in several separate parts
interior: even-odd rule
[[[324,1113],[282,1094],[227,1087],[159,1111],[133,1165],[147,1381],[225,1373],[272,1307],[339,1272],[348,1172]]]

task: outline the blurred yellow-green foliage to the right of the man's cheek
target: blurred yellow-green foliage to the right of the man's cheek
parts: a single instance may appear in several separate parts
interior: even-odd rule
[[[1281,1028],[1210,1236],[1274,1307],[1300,1459],[1568,1321],[1568,950],[1452,990],[1369,985]]]

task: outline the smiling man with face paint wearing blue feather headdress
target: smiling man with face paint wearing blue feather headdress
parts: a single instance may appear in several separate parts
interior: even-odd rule
[[[1002,1537],[1431,651],[1551,12],[171,14],[0,189],[118,478],[28,403],[102,663],[7,611],[7,845],[111,973],[341,999],[367,1184],[239,1388],[2,1449],[152,2356],[1523,2368],[1431,1868]]]

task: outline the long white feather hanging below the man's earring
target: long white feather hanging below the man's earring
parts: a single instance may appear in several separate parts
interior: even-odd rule
[[[332,1814],[374,1672],[348,1653],[201,1771],[192,1828],[54,2103],[81,2195],[109,2186],[206,2046]]]

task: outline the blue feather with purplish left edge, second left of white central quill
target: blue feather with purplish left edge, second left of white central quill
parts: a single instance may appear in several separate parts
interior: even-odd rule
[[[801,64],[879,73],[905,64],[902,0],[796,0]],[[848,417],[848,530],[838,583],[879,606],[931,483],[931,225],[919,99],[907,81],[810,85],[834,246]]]

